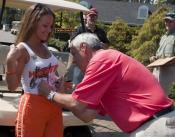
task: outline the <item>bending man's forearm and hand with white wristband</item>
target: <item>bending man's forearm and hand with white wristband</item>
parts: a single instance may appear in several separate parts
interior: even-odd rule
[[[97,115],[97,111],[88,109],[87,105],[75,100],[71,94],[57,93],[52,91],[51,87],[46,81],[41,81],[38,85],[39,94],[49,97],[58,105],[69,109],[72,113],[84,122],[89,122]]]

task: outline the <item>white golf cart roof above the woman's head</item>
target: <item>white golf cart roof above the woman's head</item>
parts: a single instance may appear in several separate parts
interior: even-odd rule
[[[89,9],[75,2],[65,0],[6,0],[6,7],[26,9],[35,3],[48,5],[52,10],[72,10],[88,12]],[[0,2],[0,6],[2,3]]]

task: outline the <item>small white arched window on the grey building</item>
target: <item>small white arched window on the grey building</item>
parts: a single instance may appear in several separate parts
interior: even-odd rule
[[[140,6],[138,9],[137,19],[146,19],[148,17],[148,7]]]

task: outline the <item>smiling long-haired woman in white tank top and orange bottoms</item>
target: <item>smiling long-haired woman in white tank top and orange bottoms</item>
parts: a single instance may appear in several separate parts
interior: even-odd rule
[[[43,4],[31,6],[24,14],[15,45],[7,55],[6,81],[14,91],[20,84],[24,94],[19,101],[16,137],[62,137],[62,110],[38,94],[38,84],[47,81],[55,90],[58,60],[48,50],[55,15]]]

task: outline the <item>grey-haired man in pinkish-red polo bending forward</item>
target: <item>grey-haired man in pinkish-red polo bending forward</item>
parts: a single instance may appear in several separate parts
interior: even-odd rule
[[[175,136],[165,124],[175,115],[173,101],[145,66],[117,50],[104,50],[92,33],[72,39],[70,50],[85,74],[82,82],[72,94],[61,94],[41,81],[40,94],[52,95],[51,101],[85,122],[107,114],[131,137]]]

